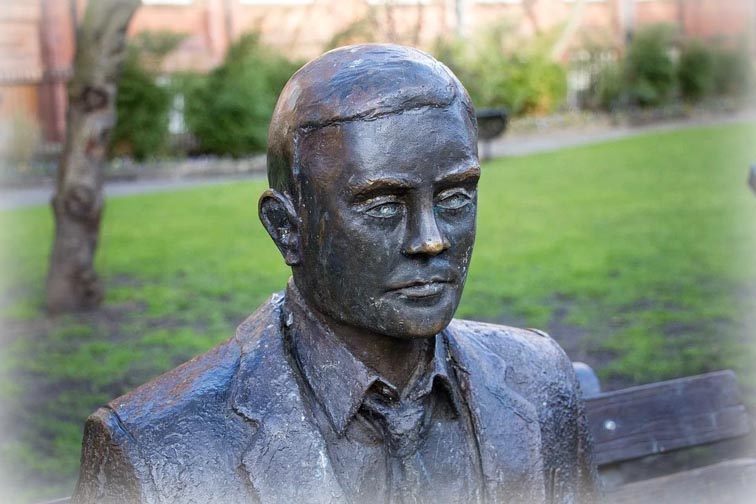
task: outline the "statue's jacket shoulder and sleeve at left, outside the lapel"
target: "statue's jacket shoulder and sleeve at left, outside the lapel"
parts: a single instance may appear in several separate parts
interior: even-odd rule
[[[238,354],[228,340],[90,416],[75,504],[216,503],[236,491],[230,467],[244,425],[227,397]]]

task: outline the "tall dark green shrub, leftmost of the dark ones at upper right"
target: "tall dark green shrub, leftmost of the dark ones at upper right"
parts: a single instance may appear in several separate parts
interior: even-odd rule
[[[672,98],[676,72],[671,49],[672,31],[668,26],[649,26],[637,32],[624,62],[624,78],[631,103],[653,107]]]

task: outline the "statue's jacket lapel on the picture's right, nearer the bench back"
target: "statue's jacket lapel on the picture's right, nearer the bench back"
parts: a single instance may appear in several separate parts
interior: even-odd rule
[[[457,321],[449,326],[447,335],[472,417],[487,502],[544,502],[541,432],[535,407],[506,385],[507,363],[500,352],[489,348],[485,335],[468,331]]]

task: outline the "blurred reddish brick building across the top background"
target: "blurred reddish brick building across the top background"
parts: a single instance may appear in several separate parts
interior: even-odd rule
[[[0,121],[30,114],[46,139],[62,139],[73,16],[81,17],[86,1],[3,0]],[[129,33],[186,33],[166,70],[206,71],[233,40],[252,30],[289,56],[307,59],[360,21],[378,40],[428,48],[440,36],[474,35],[503,20],[525,35],[548,31],[565,23],[574,8],[574,0],[143,0]],[[620,42],[632,27],[665,22],[690,35],[745,39],[756,55],[754,0],[584,0],[582,9],[574,43],[585,37]]]

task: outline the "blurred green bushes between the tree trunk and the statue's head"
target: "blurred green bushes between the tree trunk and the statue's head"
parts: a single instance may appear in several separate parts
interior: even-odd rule
[[[182,39],[171,32],[143,32],[130,41],[111,156],[143,161],[264,151],[278,94],[302,62],[290,61],[249,33],[208,74],[161,73],[160,63]]]

